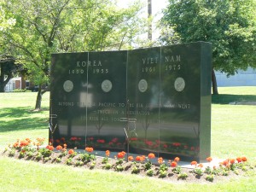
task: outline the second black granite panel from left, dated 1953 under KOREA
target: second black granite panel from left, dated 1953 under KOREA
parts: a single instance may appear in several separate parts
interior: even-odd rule
[[[88,70],[86,145],[125,150],[127,51],[91,52]],[[84,97],[85,99],[86,97]]]

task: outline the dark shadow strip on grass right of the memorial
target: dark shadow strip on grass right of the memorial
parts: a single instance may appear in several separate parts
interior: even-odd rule
[[[256,102],[256,96],[253,95],[231,95],[231,94],[219,94],[212,95],[213,104],[230,104],[236,102]]]

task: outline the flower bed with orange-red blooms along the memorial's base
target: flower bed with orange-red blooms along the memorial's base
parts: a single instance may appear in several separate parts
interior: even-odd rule
[[[179,157],[174,160],[165,161],[162,157],[155,157],[153,153],[148,156],[137,155],[132,156],[121,151],[110,158],[110,151],[105,152],[105,157],[97,157],[94,149],[90,147],[84,148],[84,152],[77,152],[76,148],[67,149],[67,144],[59,145],[54,148],[50,143],[46,147],[42,147],[44,138],[37,138],[35,142],[26,138],[17,140],[13,144],[9,144],[4,149],[3,154],[9,157],[16,157],[24,160],[35,160],[43,163],[62,163],[67,166],[79,166],[89,169],[113,170],[114,172],[131,172],[131,174],[140,174],[147,177],[159,178],[176,178],[177,180],[187,180],[191,177],[203,178],[208,182],[213,182],[215,177],[226,177],[230,174],[241,175],[248,170],[254,170],[255,166],[251,166],[247,162],[245,156],[236,159],[227,159],[219,163],[218,166],[211,166],[212,157],[208,157],[208,165],[198,164],[191,161],[192,169],[183,168],[178,165]],[[128,161],[125,161],[128,160]],[[156,164],[152,161],[157,160]]]

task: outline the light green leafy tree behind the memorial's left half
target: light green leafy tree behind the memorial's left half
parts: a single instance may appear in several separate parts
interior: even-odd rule
[[[127,48],[143,32],[137,27],[143,26],[137,16],[139,3],[118,9],[112,0],[4,2],[4,9],[16,20],[15,27],[4,33],[4,41],[15,49],[17,58],[26,61],[31,79],[38,84],[36,109],[41,108],[46,91],[42,84],[49,82],[50,54]]]

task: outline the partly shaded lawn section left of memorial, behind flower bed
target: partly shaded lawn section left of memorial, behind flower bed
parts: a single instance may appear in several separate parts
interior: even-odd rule
[[[48,138],[49,92],[42,101],[42,111],[33,111],[37,93],[0,93],[0,148],[16,139]]]

